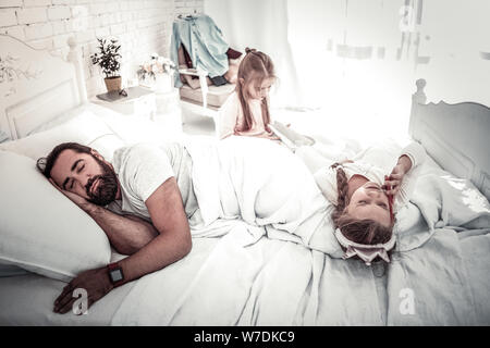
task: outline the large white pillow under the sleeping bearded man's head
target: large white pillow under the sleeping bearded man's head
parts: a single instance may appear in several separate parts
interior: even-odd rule
[[[0,262],[69,281],[109,263],[103,231],[29,158],[0,150]]]

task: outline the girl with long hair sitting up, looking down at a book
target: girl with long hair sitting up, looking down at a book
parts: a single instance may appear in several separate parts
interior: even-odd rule
[[[252,136],[279,140],[269,128],[269,90],[275,80],[274,65],[266,53],[246,48],[238,66],[235,91],[220,110],[218,135]]]

